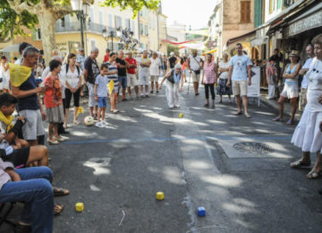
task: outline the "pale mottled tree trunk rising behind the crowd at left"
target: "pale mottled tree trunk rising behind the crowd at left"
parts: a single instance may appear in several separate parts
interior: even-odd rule
[[[45,64],[48,65],[52,58],[52,51],[56,48],[55,22],[56,15],[50,9],[38,13],[38,21],[41,30],[41,39],[45,55]]]

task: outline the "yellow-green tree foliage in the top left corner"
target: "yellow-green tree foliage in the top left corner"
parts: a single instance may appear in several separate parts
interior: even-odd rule
[[[27,11],[17,14],[6,0],[0,0],[0,43],[6,43],[16,35],[26,35],[23,28],[33,29],[38,24],[36,15]]]

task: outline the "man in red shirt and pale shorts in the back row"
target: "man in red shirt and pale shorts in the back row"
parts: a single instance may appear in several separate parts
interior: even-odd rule
[[[139,96],[139,87],[138,87],[138,81],[136,79],[136,68],[138,67],[137,65],[137,62],[136,60],[132,57],[132,53],[131,51],[127,52],[127,56],[125,58],[125,62],[126,62],[126,65],[127,65],[127,81],[128,81],[128,86],[127,86],[127,89],[128,89],[128,95],[129,95],[129,98],[132,99],[131,97],[131,87],[134,87],[134,91],[135,91],[135,94],[136,94],[136,99],[139,99],[140,96]]]

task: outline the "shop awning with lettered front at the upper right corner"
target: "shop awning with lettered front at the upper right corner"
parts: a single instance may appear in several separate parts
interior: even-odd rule
[[[306,30],[319,27],[322,27],[322,3],[315,5],[306,13],[302,13],[299,17],[289,22],[286,35],[287,37],[292,37]]]

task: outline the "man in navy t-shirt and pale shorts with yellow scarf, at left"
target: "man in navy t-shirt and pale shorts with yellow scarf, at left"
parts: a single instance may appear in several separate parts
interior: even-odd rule
[[[33,68],[38,64],[39,52],[36,47],[26,47],[22,56],[21,65]],[[19,114],[26,117],[26,123],[22,127],[23,138],[29,142],[30,146],[37,145],[38,140],[43,144],[45,140],[42,121],[46,119],[46,114],[38,96],[38,93],[42,91],[45,91],[45,88],[37,87],[33,70],[25,82],[22,82],[20,86],[13,86],[13,96],[18,99]]]

